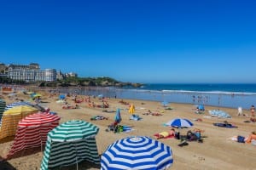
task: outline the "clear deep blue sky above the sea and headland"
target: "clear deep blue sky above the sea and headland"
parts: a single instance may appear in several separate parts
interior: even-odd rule
[[[123,82],[256,82],[256,2],[0,1],[0,62]]]

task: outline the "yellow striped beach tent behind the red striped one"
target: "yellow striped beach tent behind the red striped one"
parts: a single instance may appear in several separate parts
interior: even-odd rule
[[[36,112],[38,112],[38,109],[28,105],[15,106],[8,111],[4,111],[0,128],[0,139],[14,136],[20,120]]]

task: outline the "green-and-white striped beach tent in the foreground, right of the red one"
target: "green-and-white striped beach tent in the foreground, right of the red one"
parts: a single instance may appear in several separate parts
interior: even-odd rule
[[[48,133],[41,169],[77,164],[79,161],[100,163],[96,147],[99,128],[90,122],[68,121]]]

